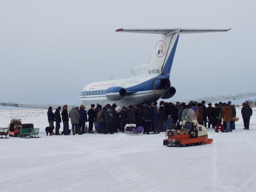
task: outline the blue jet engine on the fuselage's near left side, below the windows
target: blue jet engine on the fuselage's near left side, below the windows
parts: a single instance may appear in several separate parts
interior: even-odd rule
[[[116,101],[116,100],[120,100],[123,97],[125,97],[126,90],[125,90],[125,88],[123,88],[121,86],[112,86],[106,90],[105,95],[106,95],[107,99],[109,99],[111,101]]]

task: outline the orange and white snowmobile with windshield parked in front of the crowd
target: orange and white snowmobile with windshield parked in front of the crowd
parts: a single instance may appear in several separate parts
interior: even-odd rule
[[[182,109],[181,119],[176,124],[168,125],[165,131],[163,145],[170,146],[189,146],[210,144],[213,139],[208,139],[207,129],[203,125],[199,125],[192,109]]]

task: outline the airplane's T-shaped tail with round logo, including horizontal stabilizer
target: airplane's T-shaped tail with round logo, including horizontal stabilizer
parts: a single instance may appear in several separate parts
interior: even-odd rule
[[[173,65],[175,50],[178,44],[179,34],[225,32],[229,30],[230,29],[183,29],[183,28],[123,29],[121,28],[121,29],[117,29],[116,31],[128,32],[128,33],[160,34],[148,64],[143,65],[143,68],[144,68],[143,75],[149,76],[149,75],[170,74],[170,71]],[[133,69],[132,69],[132,73],[133,73]]]

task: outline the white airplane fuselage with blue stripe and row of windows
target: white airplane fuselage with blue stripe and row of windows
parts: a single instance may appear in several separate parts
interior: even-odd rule
[[[83,88],[79,96],[79,102],[85,106],[96,105],[97,103],[103,106],[108,103],[116,103],[117,106],[129,106],[156,101],[166,92],[166,87],[164,89],[156,89],[154,87],[154,81],[159,78],[169,79],[169,75],[134,76],[126,79],[90,83]],[[106,90],[110,87],[124,88],[126,90],[125,96],[109,100],[108,96],[106,96]],[[111,93],[113,97],[115,94],[117,97],[120,95],[119,92]]]

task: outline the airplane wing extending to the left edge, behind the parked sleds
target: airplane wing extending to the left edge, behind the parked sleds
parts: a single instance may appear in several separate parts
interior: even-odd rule
[[[53,109],[58,108],[58,106],[64,106],[64,104],[39,104],[39,103],[15,103],[15,102],[0,102],[0,106],[10,106],[10,107],[28,107],[28,108],[36,108],[36,109],[48,109],[51,106]],[[71,106],[76,105],[67,105],[71,109]]]

